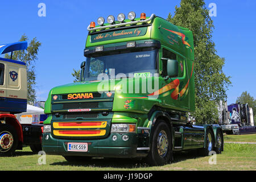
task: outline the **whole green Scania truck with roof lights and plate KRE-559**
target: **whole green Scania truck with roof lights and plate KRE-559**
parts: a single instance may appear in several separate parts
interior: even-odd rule
[[[218,125],[192,125],[193,35],[133,11],[88,26],[80,82],[56,86],[44,112],[42,148],[66,160],[144,158],[172,162],[176,151],[223,151]]]

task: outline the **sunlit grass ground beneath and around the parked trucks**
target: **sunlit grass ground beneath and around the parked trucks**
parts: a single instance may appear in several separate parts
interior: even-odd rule
[[[0,170],[10,171],[81,171],[81,170],[256,170],[256,144],[225,143],[224,152],[217,155],[217,164],[209,164],[210,156],[198,156],[195,152],[175,154],[175,162],[165,166],[148,167],[141,161],[130,159],[92,159],[88,162],[69,164],[62,156],[46,155],[46,164],[39,165],[38,154],[29,147],[16,151],[13,157],[0,157]]]

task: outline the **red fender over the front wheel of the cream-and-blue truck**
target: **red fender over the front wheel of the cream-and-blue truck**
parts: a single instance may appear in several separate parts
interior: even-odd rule
[[[20,142],[23,142],[23,132],[22,126],[20,125],[19,121],[16,119],[15,115],[13,114],[0,114],[0,119],[5,118],[6,124],[9,124],[15,128],[18,134],[18,138]],[[0,124],[1,127],[1,124]]]

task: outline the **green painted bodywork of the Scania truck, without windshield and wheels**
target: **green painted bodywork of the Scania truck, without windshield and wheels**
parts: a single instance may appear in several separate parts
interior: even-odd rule
[[[125,22],[129,21],[125,20]],[[65,97],[68,94],[98,92],[98,85],[102,84],[102,81],[76,82],[51,89],[44,109],[49,117],[44,121],[44,124],[51,124],[52,131],[43,134],[42,146],[44,151],[55,155],[143,157],[148,154],[148,150],[138,149],[150,147],[151,131],[154,130],[155,122],[158,121],[158,117],[164,118],[166,114],[169,117],[166,118],[166,121],[170,122],[170,126],[172,126],[173,150],[205,147],[205,129],[206,127],[213,129],[212,126],[192,127],[186,125],[185,113],[195,111],[192,32],[155,16],[150,22],[138,23],[133,27],[125,26],[121,30],[118,28],[108,30],[106,28],[104,31],[90,32],[86,39],[85,52],[93,51],[98,46],[104,46],[104,49],[126,47],[129,42],[135,42],[136,45],[145,44],[146,42],[160,42],[157,59],[158,73],[161,75],[163,72],[164,65],[161,58],[163,57],[163,49],[167,49],[176,54],[179,65],[177,68],[178,76],[165,79],[162,76],[148,77],[147,73],[137,73],[133,78],[107,82],[108,88],[100,90],[104,91],[103,93],[98,94],[97,98],[89,99],[67,100]],[[139,83],[139,85],[142,85],[143,82],[147,83],[148,79],[151,79],[152,83],[157,79],[158,91],[151,90],[149,92],[150,90],[146,90],[144,92],[142,87],[129,88],[129,85],[135,83]],[[122,89],[122,92],[118,92],[119,89]],[[110,97],[107,94],[108,91],[113,92]],[[157,97],[149,98],[152,93],[156,93]],[[53,97],[57,97],[57,99],[54,100]],[[68,113],[68,104],[74,103],[84,104],[84,107],[90,109],[90,113],[98,114],[97,117],[64,118],[64,115]],[[95,103],[97,106],[93,105]],[[109,114],[104,115],[103,112]],[[106,134],[100,137],[60,137],[53,134],[53,123],[55,122],[95,122],[102,120],[107,121],[108,124],[105,128]],[[126,133],[129,140],[123,141],[122,135],[125,135],[124,133],[115,134],[110,132],[113,123],[135,123],[136,131],[135,133]],[[99,130],[99,128],[84,130],[96,129]],[[180,132],[181,136],[176,134],[177,132]],[[47,135],[49,136],[48,139],[46,139]],[[113,135],[117,136],[117,140],[113,140]],[[89,143],[88,152],[68,151],[68,142]]]

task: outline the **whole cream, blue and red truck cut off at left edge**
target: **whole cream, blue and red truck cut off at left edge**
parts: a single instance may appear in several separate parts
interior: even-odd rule
[[[13,155],[24,144],[41,148],[42,126],[21,125],[14,115],[27,111],[27,67],[12,59],[24,49],[26,41],[0,45],[0,55],[11,52],[10,59],[0,57],[0,156]]]

